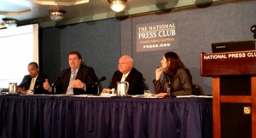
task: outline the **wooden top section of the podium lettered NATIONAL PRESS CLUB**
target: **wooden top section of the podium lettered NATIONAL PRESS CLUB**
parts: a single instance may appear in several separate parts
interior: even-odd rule
[[[201,54],[201,76],[256,74],[256,50]]]

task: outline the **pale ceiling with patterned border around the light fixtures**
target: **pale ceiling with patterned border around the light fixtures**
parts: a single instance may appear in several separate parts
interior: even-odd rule
[[[15,18],[19,20],[18,25],[40,22],[43,27],[59,26],[219,1],[228,0],[127,0],[125,11],[114,13],[108,0],[0,0],[0,23],[3,23],[3,18]],[[79,2],[84,3],[75,4]],[[55,22],[49,19],[49,9],[55,8],[66,10],[64,20]]]

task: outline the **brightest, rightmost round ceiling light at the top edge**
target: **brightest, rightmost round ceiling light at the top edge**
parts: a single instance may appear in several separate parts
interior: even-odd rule
[[[110,8],[115,12],[120,12],[125,9],[127,0],[108,0]]]

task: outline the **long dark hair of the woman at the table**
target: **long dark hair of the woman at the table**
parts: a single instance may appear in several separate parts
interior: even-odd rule
[[[165,58],[167,61],[171,62],[171,64],[166,68],[165,75],[168,75],[171,80],[174,80],[174,78],[176,78],[177,69],[182,68],[187,72],[190,84],[192,84],[192,76],[189,72],[189,69],[184,66],[183,61],[180,60],[179,56],[175,52],[167,52],[165,54]]]

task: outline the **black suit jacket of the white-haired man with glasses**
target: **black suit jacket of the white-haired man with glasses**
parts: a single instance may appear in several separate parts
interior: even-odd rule
[[[117,89],[117,82],[121,80],[123,76],[122,72],[116,71],[113,73],[112,82],[109,89]],[[144,94],[144,82],[143,74],[138,72],[137,69],[132,68],[128,74],[125,82],[129,83],[128,95],[143,95]]]

